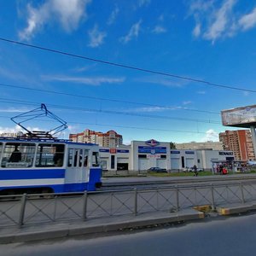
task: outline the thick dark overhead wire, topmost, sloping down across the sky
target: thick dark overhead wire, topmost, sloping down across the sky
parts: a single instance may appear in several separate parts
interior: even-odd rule
[[[144,73],[154,73],[154,74],[158,74],[158,75],[162,75],[162,76],[166,76],[166,77],[172,77],[172,78],[175,78],[175,79],[183,79],[183,80],[187,80],[187,81],[191,81],[191,82],[207,84],[207,85],[211,85],[211,86],[215,86],[215,87],[219,87],[219,88],[230,89],[230,90],[241,90],[241,91],[247,91],[247,92],[253,92],[253,93],[256,92],[256,90],[248,90],[248,89],[235,87],[235,86],[230,86],[230,85],[225,85],[225,84],[214,84],[214,83],[202,80],[202,79],[193,79],[193,78],[180,76],[180,75],[176,75],[176,74],[172,74],[172,73],[164,73],[164,72],[155,71],[155,70],[151,70],[151,69],[147,69],[147,68],[135,67],[135,66],[125,65],[125,64],[121,64],[121,63],[116,63],[116,62],[112,62],[112,61],[104,61],[104,60],[100,60],[100,59],[96,59],[96,58],[90,58],[90,57],[84,56],[84,55],[76,55],[76,54],[68,53],[66,51],[61,51],[61,50],[58,50],[58,49],[49,49],[49,48],[34,45],[34,44],[25,44],[25,43],[21,43],[19,41],[11,40],[11,39],[8,39],[8,38],[0,38],[0,40],[3,41],[3,42],[11,43],[11,44],[19,44],[19,45],[26,46],[26,47],[31,47],[31,48],[34,48],[34,49],[41,49],[41,50],[49,51],[49,52],[55,53],[55,54],[67,55],[67,56],[71,56],[71,57],[75,57],[75,58],[79,58],[79,59],[84,59],[84,60],[87,60],[87,61],[94,61],[94,62],[98,62],[98,63],[102,63],[102,64],[114,66],[114,67],[123,67],[123,68],[126,68],[126,69],[136,70],[136,71],[140,71],[140,72],[144,72]]]

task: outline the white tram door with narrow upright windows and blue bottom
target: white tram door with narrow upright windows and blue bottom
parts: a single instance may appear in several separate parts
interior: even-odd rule
[[[89,181],[89,150],[68,148],[65,184],[69,191],[85,190]]]

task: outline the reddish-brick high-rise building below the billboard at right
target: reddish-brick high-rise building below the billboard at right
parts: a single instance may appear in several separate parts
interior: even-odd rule
[[[224,131],[219,133],[219,141],[223,143],[224,150],[234,152],[236,160],[255,160],[251,131]]]

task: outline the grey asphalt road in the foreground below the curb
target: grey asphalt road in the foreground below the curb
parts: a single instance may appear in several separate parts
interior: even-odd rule
[[[58,241],[1,245],[6,256],[22,255],[254,255],[256,214],[216,217],[157,230],[130,231],[114,236],[79,237]]]

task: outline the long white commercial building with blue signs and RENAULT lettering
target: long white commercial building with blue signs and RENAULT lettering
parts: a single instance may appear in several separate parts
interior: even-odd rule
[[[144,171],[160,167],[177,172],[196,165],[204,170],[212,169],[212,161],[231,161],[232,151],[225,150],[178,150],[170,149],[170,143],[154,139],[132,141],[122,148],[100,148],[102,169],[108,171]]]

